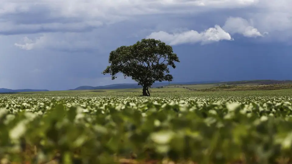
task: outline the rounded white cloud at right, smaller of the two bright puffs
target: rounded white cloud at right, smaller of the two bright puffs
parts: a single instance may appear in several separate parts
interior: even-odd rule
[[[226,20],[224,26],[222,27],[225,31],[232,34],[242,34],[245,37],[258,37],[263,36],[258,29],[252,26],[251,22],[240,18],[240,17],[230,17]]]

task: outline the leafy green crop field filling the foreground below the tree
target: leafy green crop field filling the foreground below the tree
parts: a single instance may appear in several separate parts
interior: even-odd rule
[[[3,163],[292,162],[292,90],[1,94]]]

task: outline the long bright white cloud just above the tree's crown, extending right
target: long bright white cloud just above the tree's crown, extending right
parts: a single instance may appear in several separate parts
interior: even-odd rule
[[[220,26],[215,25],[214,28],[209,28],[203,32],[194,30],[185,31],[181,33],[169,34],[164,31],[152,32],[146,38],[160,39],[170,45],[178,45],[184,43],[198,43],[202,44],[218,42],[221,40],[233,40],[229,33],[225,32]]]

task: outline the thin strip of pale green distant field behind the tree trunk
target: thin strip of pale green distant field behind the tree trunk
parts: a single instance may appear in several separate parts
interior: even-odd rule
[[[118,84],[117,84],[118,85]],[[130,85],[129,85],[130,86]],[[133,86],[130,86],[133,87]],[[135,85],[135,87],[137,87]],[[159,87],[151,87],[150,93],[165,93],[165,92],[192,92],[192,91],[265,91],[265,90],[280,90],[291,89],[292,81],[284,80],[253,80],[253,81],[233,81],[221,82],[215,84],[170,84]],[[40,92],[14,92],[11,94],[121,94],[133,93],[139,94],[141,88],[129,89],[92,89],[92,90],[68,90],[68,91],[40,91]]]

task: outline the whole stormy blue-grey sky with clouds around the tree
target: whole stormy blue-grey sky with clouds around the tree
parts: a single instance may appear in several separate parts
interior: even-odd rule
[[[292,80],[291,0],[2,0],[0,88],[135,83],[101,72],[143,38],[173,47],[173,82]]]

